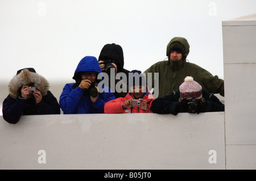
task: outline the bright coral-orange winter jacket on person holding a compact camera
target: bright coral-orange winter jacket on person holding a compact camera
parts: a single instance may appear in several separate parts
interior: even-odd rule
[[[142,108],[134,106],[131,108],[126,108],[123,110],[123,103],[127,100],[133,98],[133,96],[128,92],[124,98],[120,97],[114,100],[110,100],[105,103],[104,112],[105,113],[150,113],[151,103],[154,100],[154,97],[150,94],[150,92],[146,92],[142,99],[147,100],[148,109],[143,111]]]

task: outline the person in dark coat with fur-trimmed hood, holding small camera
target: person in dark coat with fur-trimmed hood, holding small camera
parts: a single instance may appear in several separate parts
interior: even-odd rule
[[[31,92],[28,87],[35,87]],[[60,114],[60,106],[49,91],[48,81],[34,68],[17,71],[9,83],[9,95],[3,101],[3,119],[18,123],[22,115]]]

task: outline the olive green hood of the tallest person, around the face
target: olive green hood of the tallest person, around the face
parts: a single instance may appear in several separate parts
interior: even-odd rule
[[[170,59],[171,49],[173,49],[173,48],[179,48],[182,50],[181,60],[172,61]],[[167,49],[166,49],[166,56],[168,56],[168,62],[169,62],[171,69],[179,70],[183,66],[184,62],[186,62],[188,53],[189,53],[189,44],[188,44],[188,41],[184,37],[174,37],[173,39],[171,39],[171,41],[168,43]]]

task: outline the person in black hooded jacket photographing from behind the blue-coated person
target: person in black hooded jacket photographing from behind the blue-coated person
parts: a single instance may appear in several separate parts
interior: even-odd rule
[[[112,89],[115,98],[124,98],[129,92],[127,83],[130,71],[123,68],[123,59],[123,49],[115,43],[104,45],[98,57],[102,73],[108,74],[107,86]]]

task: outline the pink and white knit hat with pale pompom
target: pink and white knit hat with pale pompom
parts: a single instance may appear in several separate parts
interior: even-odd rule
[[[193,77],[187,76],[184,82],[180,85],[180,98],[181,99],[201,99],[202,86],[193,80]]]

